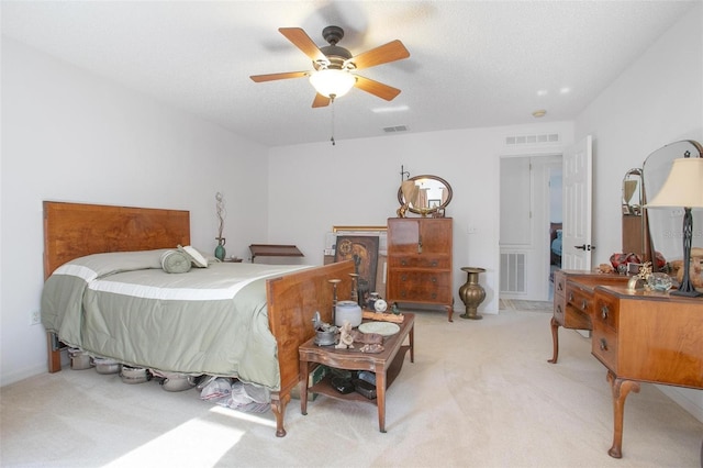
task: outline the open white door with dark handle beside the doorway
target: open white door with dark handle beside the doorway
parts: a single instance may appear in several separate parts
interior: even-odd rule
[[[563,153],[563,225],[561,268],[591,269],[591,158],[592,138],[587,136]]]

